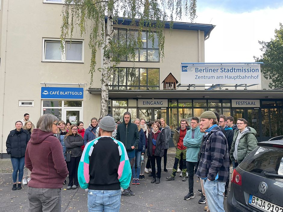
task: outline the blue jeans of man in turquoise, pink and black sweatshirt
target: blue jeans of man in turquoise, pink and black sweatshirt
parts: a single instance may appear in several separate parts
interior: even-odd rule
[[[89,212],[119,212],[121,190],[91,190],[88,192]]]

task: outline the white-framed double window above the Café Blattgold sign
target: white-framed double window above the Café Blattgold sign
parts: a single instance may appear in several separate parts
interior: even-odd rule
[[[43,38],[42,61],[83,63],[83,41],[66,40],[64,51],[59,39]]]

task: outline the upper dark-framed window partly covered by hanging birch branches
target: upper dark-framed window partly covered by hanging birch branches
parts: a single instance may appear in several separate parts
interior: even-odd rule
[[[114,39],[136,48],[134,58],[128,55],[126,58],[120,57],[121,61],[159,62],[159,40],[156,32],[142,31],[139,35],[137,30],[120,28],[114,30],[116,30]],[[138,36],[142,41],[140,50],[138,50]]]

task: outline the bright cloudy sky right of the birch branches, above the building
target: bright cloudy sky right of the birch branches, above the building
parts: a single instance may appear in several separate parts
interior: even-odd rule
[[[205,41],[205,62],[254,62],[262,54],[258,41],[270,41],[283,23],[283,1],[199,0],[197,16],[195,23],[216,25]]]

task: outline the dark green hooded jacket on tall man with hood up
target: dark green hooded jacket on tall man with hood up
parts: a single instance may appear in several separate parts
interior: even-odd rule
[[[126,125],[123,117],[123,123],[119,124],[117,127],[116,139],[124,144],[128,154],[131,151],[135,151],[135,149],[132,149],[132,146],[135,146],[135,148],[138,146],[139,132],[138,126],[131,123],[131,116],[128,125]]]

